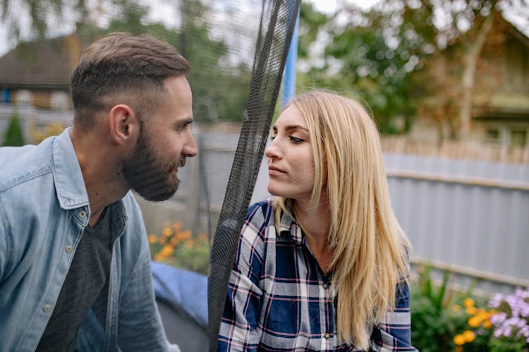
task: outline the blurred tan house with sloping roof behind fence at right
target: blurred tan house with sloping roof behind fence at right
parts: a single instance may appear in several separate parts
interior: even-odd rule
[[[454,135],[450,129],[459,128],[465,55],[473,42],[468,37],[462,40],[466,44],[461,39],[449,44],[430,62],[423,80],[432,91],[424,118],[416,120],[411,131],[415,142],[444,142]],[[471,116],[467,142],[529,153],[529,37],[501,16],[494,18],[478,57]]]

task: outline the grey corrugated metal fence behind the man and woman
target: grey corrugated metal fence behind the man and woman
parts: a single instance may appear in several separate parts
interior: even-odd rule
[[[197,130],[200,154],[183,168],[181,189],[162,204],[141,202],[148,229],[179,218],[214,234],[238,134]],[[529,165],[384,153],[396,217],[413,263],[454,272],[465,288],[529,286]],[[253,201],[265,198],[263,159]]]

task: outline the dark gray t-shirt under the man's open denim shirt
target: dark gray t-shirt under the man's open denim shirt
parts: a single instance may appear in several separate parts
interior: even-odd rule
[[[110,224],[107,206],[95,227],[85,227],[37,351],[75,350],[79,325],[99,294],[108,290],[114,244]]]

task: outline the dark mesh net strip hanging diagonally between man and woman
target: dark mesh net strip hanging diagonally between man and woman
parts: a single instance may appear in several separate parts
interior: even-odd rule
[[[209,257],[209,351],[217,335],[238,234],[260,168],[300,1],[263,1],[250,96]]]

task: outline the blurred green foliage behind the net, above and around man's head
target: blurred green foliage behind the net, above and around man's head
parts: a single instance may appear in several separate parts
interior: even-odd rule
[[[213,39],[209,19],[212,13],[200,0],[181,0],[176,3],[181,14],[179,28],[169,28],[148,18],[149,6],[139,0],[102,0],[98,8],[90,8],[85,0],[23,0],[18,4],[32,19],[32,34],[42,37],[50,25],[59,20],[76,28],[80,48],[98,37],[116,31],[133,34],[150,33],[175,46],[191,65],[188,80],[193,91],[193,111],[196,120],[243,120],[250,89],[251,63],[231,63],[226,60],[229,47],[223,39]],[[13,0],[3,0],[0,13],[9,18],[13,28],[18,21],[13,13]],[[105,27],[97,25],[97,12],[111,8],[112,14]],[[63,17],[70,13],[71,18]],[[20,15],[20,13],[18,13]],[[175,23],[177,21],[175,20]],[[75,25],[73,25],[75,23]],[[12,28],[12,29],[13,29]],[[18,30],[15,30],[17,32]],[[37,55],[35,52],[25,53]]]

